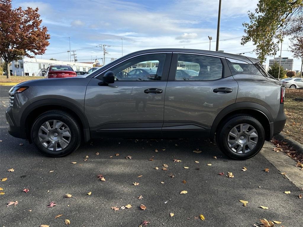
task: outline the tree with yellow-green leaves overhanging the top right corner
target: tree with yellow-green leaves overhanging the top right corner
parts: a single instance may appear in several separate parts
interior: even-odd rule
[[[259,0],[255,13],[248,12],[250,23],[243,23],[246,35],[241,44],[252,41],[258,58],[275,55],[286,36],[303,35],[303,0]]]

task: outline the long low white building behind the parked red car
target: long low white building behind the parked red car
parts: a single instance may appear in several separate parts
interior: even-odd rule
[[[38,58],[22,58],[18,61],[12,61],[12,74],[16,76],[43,76],[44,71],[51,65],[69,65],[74,71],[87,72],[93,67],[93,64],[70,62],[70,61],[54,61]]]

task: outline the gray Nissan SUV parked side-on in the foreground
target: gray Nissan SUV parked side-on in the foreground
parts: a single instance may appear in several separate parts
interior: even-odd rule
[[[154,70],[130,76],[136,68]],[[93,138],[195,137],[216,139],[225,155],[244,160],[283,129],[284,91],[255,58],[154,49],[84,77],[18,84],[9,91],[6,119],[12,136],[52,157]]]

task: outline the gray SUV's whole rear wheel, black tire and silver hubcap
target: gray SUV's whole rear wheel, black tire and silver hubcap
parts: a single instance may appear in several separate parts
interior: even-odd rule
[[[249,159],[261,150],[265,132],[261,123],[254,117],[239,115],[229,118],[216,134],[217,145],[230,158]]]

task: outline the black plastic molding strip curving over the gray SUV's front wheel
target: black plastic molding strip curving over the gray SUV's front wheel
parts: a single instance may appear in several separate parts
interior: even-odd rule
[[[91,137],[90,137],[90,132],[89,132],[88,120],[87,120],[85,114],[83,113],[83,111],[75,104],[72,104],[71,102],[68,102],[65,100],[60,100],[60,99],[42,99],[42,100],[38,100],[38,101],[35,101],[32,104],[30,104],[28,107],[26,107],[26,109],[22,113],[21,119],[24,119],[24,120],[22,120],[20,122],[21,128],[23,128],[25,130],[25,128],[26,128],[25,119],[29,116],[29,114],[33,110],[35,110],[39,107],[50,106],[50,105],[62,106],[62,107],[68,108],[73,113],[75,113],[77,115],[77,117],[80,119],[82,126],[83,126],[84,141],[88,142],[90,140]],[[38,116],[35,116],[35,117],[38,117]],[[26,131],[24,131],[24,134],[25,133],[26,133]]]

